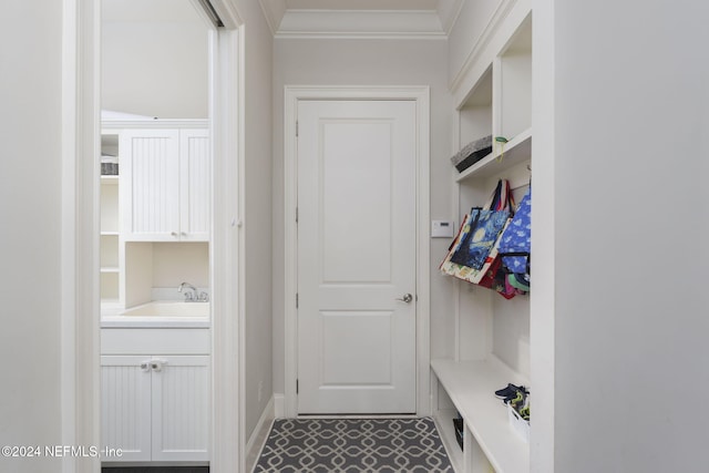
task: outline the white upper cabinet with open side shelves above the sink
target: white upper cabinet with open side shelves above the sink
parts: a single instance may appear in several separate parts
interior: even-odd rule
[[[165,265],[158,265],[161,273],[155,275],[154,245],[169,243],[172,253],[182,257],[179,245],[208,244],[212,158],[206,125],[204,120],[102,123],[101,160],[119,169],[117,175],[101,175],[103,315],[148,302],[154,287],[178,284],[165,282]],[[158,264],[182,261],[181,257]],[[197,266],[208,265],[207,259]],[[172,265],[171,270],[192,281],[194,263]]]

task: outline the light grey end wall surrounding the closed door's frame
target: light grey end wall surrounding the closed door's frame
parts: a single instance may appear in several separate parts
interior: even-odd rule
[[[276,40],[274,114],[282,117],[285,85],[430,85],[431,218],[451,218],[451,103],[446,43],[440,40]],[[282,120],[274,123],[274,228],[284,222]],[[284,392],[284,238],[274,232],[274,389]],[[452,356],[450,285],[438,265],[450,239],[431,240],[431,351]]]

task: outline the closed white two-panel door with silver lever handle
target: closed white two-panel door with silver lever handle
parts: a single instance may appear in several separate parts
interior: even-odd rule
[[[298,103],[298,413],[413,413],[413,101]]]

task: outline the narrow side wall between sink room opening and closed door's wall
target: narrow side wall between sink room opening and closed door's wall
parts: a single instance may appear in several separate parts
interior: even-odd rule
[[[246,235],[245,389],[246,440],[248,440],[274,392],[271,384],[273,35],[258,2],[243,0],[236,3],[246,28],[246,215],[244,215],[244,225]]]

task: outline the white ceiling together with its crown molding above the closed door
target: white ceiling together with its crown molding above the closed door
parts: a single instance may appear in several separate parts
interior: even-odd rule
[[[277,38],[446,38],[464,0],[259,0]]]

